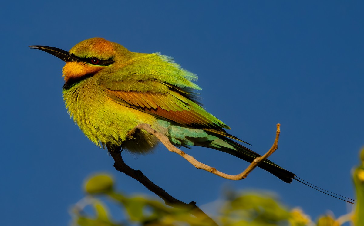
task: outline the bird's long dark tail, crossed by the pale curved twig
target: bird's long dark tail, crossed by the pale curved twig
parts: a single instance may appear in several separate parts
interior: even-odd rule
[[[218,140],[212,141],[209,144],[206,144],[204,142],[199,144],[195,143],[195,145],[213,148],[241,158],[242,160],[245,160],[247,162],[253,162],[255,158],[261,156],[260,154],[253,152],[249,148],[246,148],[245,146],[238,144],[237,142],[230,140],[226,137],[220,137]],[[291,183],[293,178],[296,176],[294,173],[283,169],[282,167],[267,159],[261,162],[258,167],[268,171],[269,173],[275,175],[286,183]]]

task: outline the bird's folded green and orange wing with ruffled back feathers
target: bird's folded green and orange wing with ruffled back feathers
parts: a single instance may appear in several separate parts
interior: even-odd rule
[[[192,91],[200,88],[191,80],[197,76],[179,68],[170,58],[150,55],[123,65],[118,72],[101,79],[100,86],[112,100],[124,106],[183,126],[239,140],[223,130],[230,129],[229,126],[208,113],[195,100]],[[150,61],[149,57],[156,56],[159,60]]]

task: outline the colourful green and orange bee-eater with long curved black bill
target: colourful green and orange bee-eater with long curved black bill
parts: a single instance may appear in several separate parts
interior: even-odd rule
[[[177,147],[202,146],[248,162],[261,156],[240,144],[248,143],[227,133],[230,127],[203,108],[196,93],[201,90],[195,84],[197,76],[169,56],[131,52],[100,37],[83,40],[70,51],[29,47],[66,62],[66,108],[86,137],[100,148],[149,153],[159,140],[144,130],[130,134],[139,124],[149,124]],[[286,183],[294,179],[318,188],[268,159],[258,166]]]

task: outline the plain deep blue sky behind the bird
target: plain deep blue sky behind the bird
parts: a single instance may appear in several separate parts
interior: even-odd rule
[[[360,1],[24,1],[3,3],[0,114],[0,225],[65,225],[94,172],[114,175],[126,193],[151,194],[118,173],[107,152],[74,125],[64,108],[64,62],[28,45],[69,50],[104,37],[134,52],[161,52],[199,76],[206,109],[229,132],[299,177],[354,197],[351,170],[364,145],[364,18]],[[237,174],[246,162],[204,148],[197,160]],[[160,146],[155,154],[123,154],[171,195],[197,205],[224,186],[276,193],[316,218],[352,206],[264,170],[227,181],[195,169]]]

